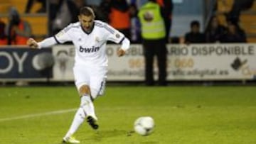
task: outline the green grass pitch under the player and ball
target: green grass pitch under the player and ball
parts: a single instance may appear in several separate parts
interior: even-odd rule
[[[80,104],[75,87],[0,87],[0,143],[60,144]],[[114,87],[95,101],[100,128],[82,144],[256,143],[255,87]],[[139,116],[156,123],[132,133]]]

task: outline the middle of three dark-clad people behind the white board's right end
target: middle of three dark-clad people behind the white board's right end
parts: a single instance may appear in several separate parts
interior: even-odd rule
[[[220,43],[220,38],[223,37],[227,28],[220,25],[217,16],[210,19],[210,24],[206,29],[206,42],[207,43]]]

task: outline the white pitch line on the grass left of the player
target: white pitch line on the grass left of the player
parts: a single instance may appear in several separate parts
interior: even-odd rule
[[[60,114],[60,113],[69,113],[72,111],[76,111],[77,109],[65,109],[65,110],[60,110],[60,111],[50,111],[47,113],[36,113],[36,114],[28,114],[24,116],[16,116],[16,117],[11,117],[11,118],[0,118],[0,122],[3,121],[13,121],[13,120],[18,120],[18,119],[24,119],[24,118],[34,118],[38,116],[50,116],[50,115],[55,115],[55,114]]]

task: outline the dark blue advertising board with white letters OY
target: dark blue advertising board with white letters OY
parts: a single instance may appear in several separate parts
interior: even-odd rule
[[[0,48],[0,79],[34,79],[53,77],[46,70],[51,49]],[[47,73],[47,76],[46,76]]]

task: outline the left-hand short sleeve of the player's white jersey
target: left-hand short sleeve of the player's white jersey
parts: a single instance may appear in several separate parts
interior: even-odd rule
[[[70,28],[72,27],[71,25],[72,24],[65,27],[63,30],[61,30],[60,32],[53,36],[57,43],[65,43],[72,40],[69,35]]]

